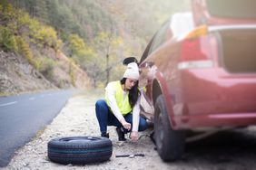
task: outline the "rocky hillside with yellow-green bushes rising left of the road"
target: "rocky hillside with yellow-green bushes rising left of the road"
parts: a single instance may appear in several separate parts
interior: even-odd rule
[[[1,96],[91,86],[86,72],[62,52],[63,42],[51,26],[1,3]]]

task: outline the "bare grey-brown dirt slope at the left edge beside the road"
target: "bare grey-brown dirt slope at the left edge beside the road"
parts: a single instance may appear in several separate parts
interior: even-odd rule
[[[22,56],[0,51],[0,95],[47,89],[56,87]]]

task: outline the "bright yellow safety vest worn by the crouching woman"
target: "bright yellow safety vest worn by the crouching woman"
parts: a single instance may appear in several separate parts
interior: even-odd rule
[[[112,82],[110,82],[109,85],[111,85],[115,91],[114,99],[116,100],[116,103],[117,103],[118,108],[120,109],[120,112],[123,115],[127,115],[128,113],[130,113],[132,111],[132,107],[129,103],[129,97],[127,94],[125,96],[125,98],[123,99],[123,89],[122,89],[120,80],[112,81]],[[106,97],[106,93],[105,93],[105,99],[106,99],[107,105],[110,106],[109,100]]]

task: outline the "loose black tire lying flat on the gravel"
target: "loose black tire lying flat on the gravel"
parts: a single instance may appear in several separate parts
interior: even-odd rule
[[[56,137],[48,142],[49,159],[64,165],[103,162],[112,153],[112,141],[106,137]]]

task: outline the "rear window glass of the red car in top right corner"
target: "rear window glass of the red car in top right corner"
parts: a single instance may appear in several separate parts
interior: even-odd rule
[[[206,5],[213,16],[256,19],[255,0],[206,0]]]

